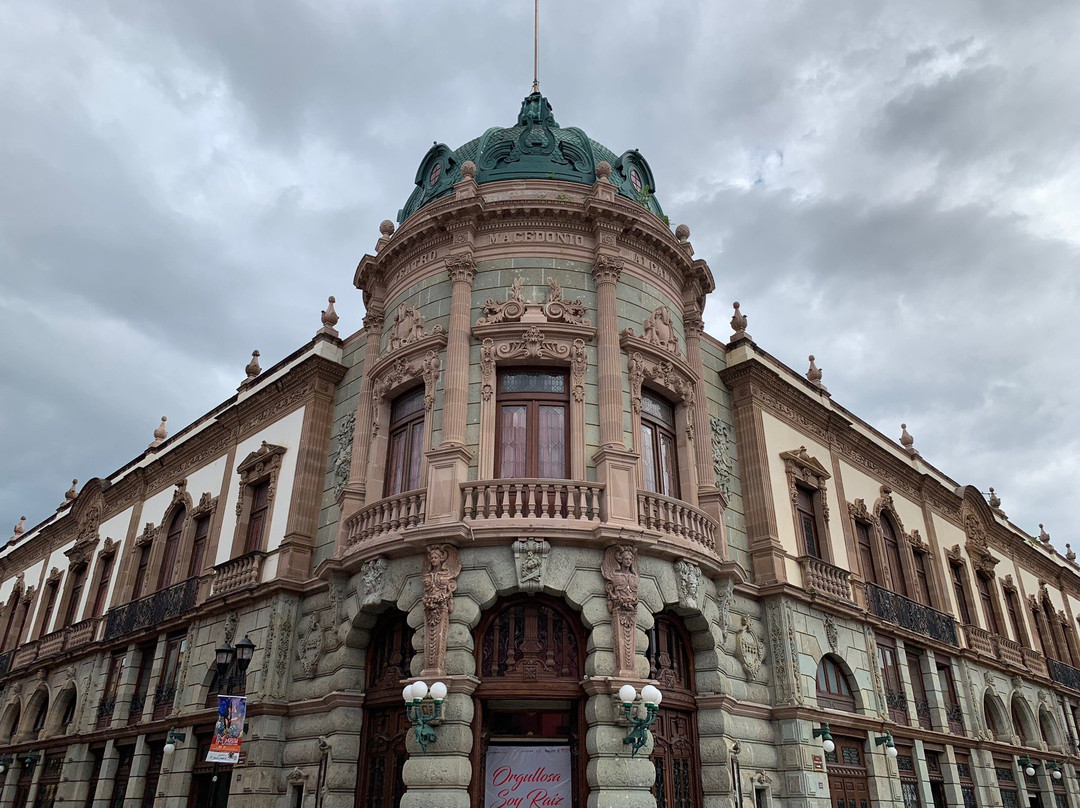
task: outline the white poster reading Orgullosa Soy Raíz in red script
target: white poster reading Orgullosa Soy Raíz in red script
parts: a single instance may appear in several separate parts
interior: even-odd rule
[[[488,746],[484,808],[570,808],[569,746]]]

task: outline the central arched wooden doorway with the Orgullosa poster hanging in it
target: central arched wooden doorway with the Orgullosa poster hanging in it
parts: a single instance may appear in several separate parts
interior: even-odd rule
[[[541,769],[538,780],[551,777],[541,787],[570,797],[561,805],[585,805],[584,647],[578,616],[542,595],[510,598],[484,615],[475,642],[473,806],[490,802],[489,787],[492,797],[517,796],[512,773]]]

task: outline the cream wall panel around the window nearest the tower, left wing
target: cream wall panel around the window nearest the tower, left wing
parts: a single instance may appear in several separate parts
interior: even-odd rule
[[[282,456],[281,471],[278,474],[278,484],[274,487],[273,511],[270,515],[270,526],[267,533],[266,549],[268,552],[276,550],[281,546],[281,540],[285,536],[285,524],[288,521],[288,508],[293,499],[293,481],[296,477],[296,458],[300,445],[300,430],[303,427],[303,412],[306,407],[289,413],[284,418],[274,421],[266,429],[252,435],[237,446],[234,467],[229,471],[228,497],[225,502],[218,502],[218,508],[224,508],[224,519],[221,521],[221,536],[217,543],[217,556],[215,564],[229,561],[232,551],[232,535],[237,529],[237,497],[240,491],[240,475],[235,466],[243,462],[253,452],[256,452],[262,442],[284,446],[286,452]],[[191,490],[190,483],[188,490]],[[213,488],[211,490],[216,490]],[[170,496],[172,496],[170,494]]]

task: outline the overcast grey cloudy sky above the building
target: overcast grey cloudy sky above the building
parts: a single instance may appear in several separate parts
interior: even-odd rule
[[[432,140],[510,125],[532,3],[0,3],[0,524],[302,345]],[[766,350],[1080,540],[1068,0],[542,0],[563,125],[639,148]],[[10,534],[8,534],[10,535]]]

